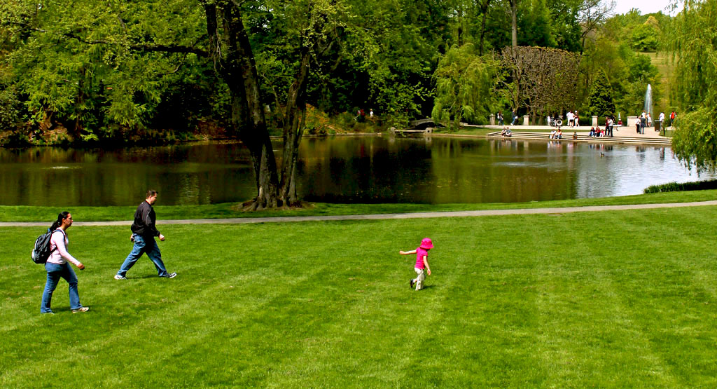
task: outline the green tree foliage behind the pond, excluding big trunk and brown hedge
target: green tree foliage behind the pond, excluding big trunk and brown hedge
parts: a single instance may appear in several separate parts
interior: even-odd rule
[[[212,52],[221,47],[213,39],[223,39],[224,27],[207,37],[207,4],[221,5],[214,0],[101,7],[90,1],[4,2],[1,129],[35,143],[48,141],[53,132],[70,141],[113,143],[171,141],[192,133],[232,136],[237,128],[232,128],[231,85],[218,69],[227,53]],[[288,90],[302,55],[310,60],[303,103],[331,118],[371,108],[382,123],[396,126],[429,115],[484,123],[488,113],[511,109],[536,115],[587,111],[599,70],[609,75],[618,111],[640,106],[646,83],[660,93],[655,67],[647,58],[637,60],[632,50],[654,50],[656,33],[669,18],[635,11],[612,17],[607,1],[240,4],[273,133],[287,124]],[[582,53],[578,88],[566,101],[536,109],[534,95],[506,97],[518,80],[490,53],[511,45],[512,29],[518,46]],[[334,128],[354,124],[337,119]]]

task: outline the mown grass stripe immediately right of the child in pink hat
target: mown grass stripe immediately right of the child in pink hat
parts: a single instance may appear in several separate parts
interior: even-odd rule
[[[525,217],[509,219],[474,219],[467,228],[447,226],[458,230],[450,237],[447,255],[456,258],[460,278],[446,293],[450,310],[435,335],[435,342],[449,351],[440,354],[440,385],[505,387],[539,385],[543,380],[531,342],[534,301],[526,289],[534,281],[526,269],[538,259],[518,253],[531,244],[529,231],[514,228]]]

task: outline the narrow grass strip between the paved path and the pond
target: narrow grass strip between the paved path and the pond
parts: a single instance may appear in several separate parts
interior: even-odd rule
[[[655,204],[663,202],[695,202],[717,200],[717,190],[636,194],[632,196],[600,197],[594,199],[553,200],[485,204],[329,204],[314,203],[298,210],[265,210],[242,212],[236,204],[161,205],[154,207],[158,220],[217,219],[227,217],[333,216],[403,212],[443,212],[465,210],[505,210],[545,207],[585,207],[593,205]],[[47,226],[62,211],[72,212],[77,222],[132,220],[136,207],[29,207],[0,206],[0,222],[42,222]]]

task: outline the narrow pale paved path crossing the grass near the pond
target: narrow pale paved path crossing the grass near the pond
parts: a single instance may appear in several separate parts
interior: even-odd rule
[[[451,211],[451,212],[414,212],[414,213],[382,213],[376,215],[336,215],[336,216],[282,216],[282,217],[236,217],[232,219],[187,219],[159,220],[157,225],[171,224],[246,224],[267,222],[321,222],[335,220],[386,220],[386,219],[426,219],[430,217],[480,217],[499,215],[536,215],[547,213],[597,212],[615,210],[651,210],[655,208],[701,207],[717,205],[717,200],[703,202],[670,202],[663,204],[637,205],[596,205],[590,207],[562,208],[526,208],[519,210],[482,210],[482,211]],[[93,225],[131,225],[131,220],[117,222],[74,222],[76,226]],[[47,227],[47,222],[0,222],[0,227]]]

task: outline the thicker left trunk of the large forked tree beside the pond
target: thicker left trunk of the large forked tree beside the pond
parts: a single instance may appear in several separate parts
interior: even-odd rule
[[[218,23],[209,19],[217,17],[213,4],[205,4],[209,37],[213,37],[218,24],[222,25],[222,44],[225,54],[219,57],[219,74],[229,85],[232,96],[232,123],[250,151],[254,167],[257,196],[250,203],[252,210],[277,207],[280,205],[278,196],[277,165],[272,149],[266,119],[262,109],[259,89],[259,76],[254,60],[254,53],[244,30],[242,14],[239,7],[232,1],[217,2],[219,7]],[[210,38],[211,39],[211,38]]]

